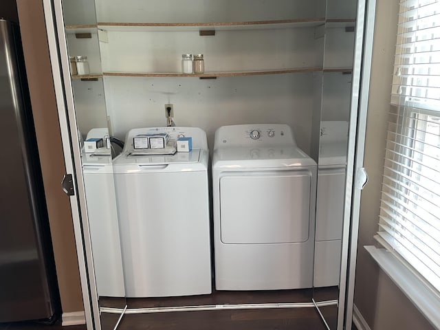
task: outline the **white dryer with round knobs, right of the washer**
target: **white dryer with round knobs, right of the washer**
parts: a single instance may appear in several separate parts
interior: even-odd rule
[[[316,162],[289,126],[220,127],[212,197],[216,289],[312,287]]]

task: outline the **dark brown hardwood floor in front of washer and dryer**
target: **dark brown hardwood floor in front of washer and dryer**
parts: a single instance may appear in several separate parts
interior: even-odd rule
[[[173,298],[100,298],[102,307],[129,309],[199,305],[240,305],[264,303],[310,303],[311,298],[333,300],[338,288],[296,289],[254,292],[216,292],[202,296]],[[336,329],[336,306],[320,307],[331,329]],[[101,313],[102,330],[113,330],[119,315]],[[318,311],[307,308],[218,309],[150,314],[125,314],[120,330],[325,330]],[[38,322],[0,323],[0,330],[87,330],[85,325],[62,327]]]

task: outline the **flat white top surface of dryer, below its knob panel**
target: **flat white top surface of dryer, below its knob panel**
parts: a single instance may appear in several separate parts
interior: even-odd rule
[[[316,166],[300,148],[218,148],[212,156],[214,168],[283,168]]]

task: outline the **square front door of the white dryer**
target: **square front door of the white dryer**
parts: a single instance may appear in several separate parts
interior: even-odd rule
[[[313,234],[310,170],[227,173],[220,179],[225,244],[303,243]]]

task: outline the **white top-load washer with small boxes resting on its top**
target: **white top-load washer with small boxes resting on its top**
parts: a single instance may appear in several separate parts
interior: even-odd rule
[[[160,133],[168,133],[168,144],[192,137],[192,150],[133,147],[135,136]],[[126,134],[113,170],[127,297],[211,293],[208,158],[206,133],[199,128]]]

